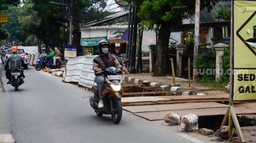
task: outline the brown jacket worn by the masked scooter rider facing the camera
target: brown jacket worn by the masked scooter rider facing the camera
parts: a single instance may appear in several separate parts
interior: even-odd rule
[[[109,67],[114,66],[116,68],[122,68],[122,66],[120,65],[120,63],[118,62],[118,60],[116,59],[115,56],[113,56],[113,55],[103,55],[103,56],[106,59],[108,59]],[[96,71],[97,68],[105,68],[106,67],[100,56],[95,57],[95,59],[100,60],[100,64],[93,62],[93,71]]]

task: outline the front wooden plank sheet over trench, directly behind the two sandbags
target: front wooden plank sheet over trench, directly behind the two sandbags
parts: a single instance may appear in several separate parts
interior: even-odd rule
[[[225,115],[228,107],[221,108],[204,108],[204,109],[186,109],[186,110],[171,110],[171,112],[178,114],[180,117],[187,114],[196,114],[196,116],[216,116]],[[235,105],[236,114],[255,114],[256,104],[240,104]],[[137,116],[145,118],[149,121],[163,120],[163,117],[169,111],[157,111],[157,112],[144,112],[134,113]]]

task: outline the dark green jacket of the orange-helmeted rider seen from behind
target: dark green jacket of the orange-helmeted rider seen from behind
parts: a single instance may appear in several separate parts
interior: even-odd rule
[[[19,54],[12,54],[8,57],[5,68],[12,69],[14,66],[18,66],[19,68],[24,67],[24,59]]]

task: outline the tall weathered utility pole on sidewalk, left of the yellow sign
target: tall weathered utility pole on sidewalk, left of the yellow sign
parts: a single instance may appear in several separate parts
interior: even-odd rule
[[[195,44],[194,44],[194,64],[193,64],[193,82],[196,82],[198,75],[198,48],[199,48],[199,29],[200,29],[200,0],[196,0],[195,13]]]

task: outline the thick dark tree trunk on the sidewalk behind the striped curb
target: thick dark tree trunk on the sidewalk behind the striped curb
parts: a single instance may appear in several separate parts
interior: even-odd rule
[[[156,63],[154,66],[153,76],[166,76],[166,63],[168,60],[168,46],[171,34],[171,26],[169,23],[162,23],[157,41]]]

